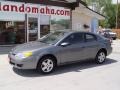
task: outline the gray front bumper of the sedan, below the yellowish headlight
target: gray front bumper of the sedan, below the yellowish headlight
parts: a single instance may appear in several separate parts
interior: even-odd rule
[[[13,65],[13,67],[18,69],[36,69],[37,66],[37,58],[31,56],[25,59],[18,59],[14,55],[8,55],[9,63]]]

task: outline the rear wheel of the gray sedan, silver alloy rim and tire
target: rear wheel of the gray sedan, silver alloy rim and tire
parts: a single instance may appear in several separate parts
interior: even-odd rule
[[[97,64],[102,64],[104,63],[106,60],[106,54],[104,51],[99,51],[96,55],[96,58],[95,58],[95,62]]]

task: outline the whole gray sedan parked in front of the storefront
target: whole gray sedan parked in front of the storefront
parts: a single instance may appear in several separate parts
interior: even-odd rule
[[[47,74],[56,66],[94,60],[105,62],[112,52],[108,39],[90,32],[56,31],[38,41],[16,46],[8,57],[10,64],[18,69],[36,69]]]

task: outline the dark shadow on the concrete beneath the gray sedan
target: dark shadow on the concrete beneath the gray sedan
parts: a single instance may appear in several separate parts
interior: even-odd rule
[[[116,63],[116,62],[117,62],[116,60],[113,60],[110,58],[107,58],[106,62],[104,62],[103,64],[96,64],[93,61],[84,61],[84,62],[69,64],[69,65],[59,66],[56,68],[54,72],[52,72],[51,74],[47,74],[47,75],[40,74],[36,72],[36,70],[20,70],[20,69],[13,68],[13,71],[16,74],[23,76],[23,77],[42,77],[42,76],[45,77],[45,76],[51,76],[51,75],[52,76],[60,75],[63,73],[68,73],[68,72],[82,72],[82,70],[85,70],[85,69],[109,65],[109,64]]]

